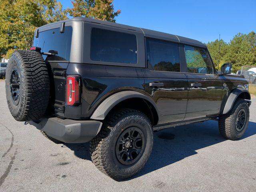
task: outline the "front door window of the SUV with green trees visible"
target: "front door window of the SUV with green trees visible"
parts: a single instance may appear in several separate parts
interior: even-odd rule
[[[203,48],[184,46],[188,72],[213,74],[212,63]]]

